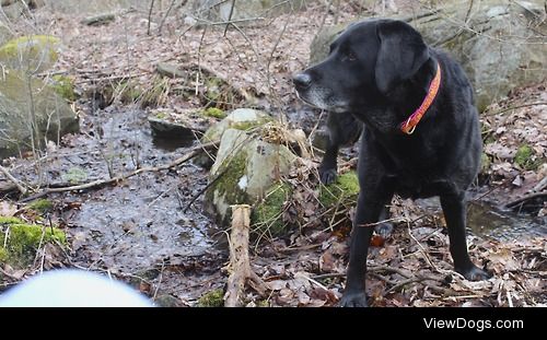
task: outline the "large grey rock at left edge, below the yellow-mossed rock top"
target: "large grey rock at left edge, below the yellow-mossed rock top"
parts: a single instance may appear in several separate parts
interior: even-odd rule
[[[0,77],[0,159],[78,131],[77,114],[42,80],[14,70]]]

